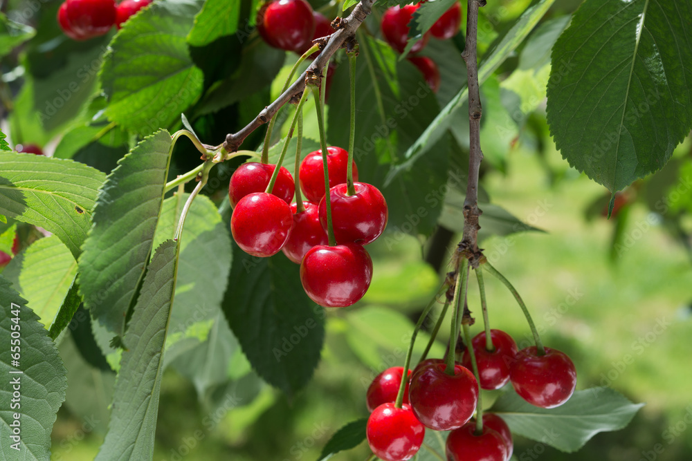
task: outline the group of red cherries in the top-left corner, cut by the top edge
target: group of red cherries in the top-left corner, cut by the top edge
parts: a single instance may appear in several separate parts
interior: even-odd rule
[[[57,23],[74,40],[88,40],[106,35],[113,25],[122,23],[152,0],[66,0],[57,10]]]

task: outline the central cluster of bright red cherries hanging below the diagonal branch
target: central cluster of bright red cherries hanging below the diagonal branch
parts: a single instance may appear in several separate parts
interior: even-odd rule
[[[300,264],[300,281],[310,299],[325,307],[352,305],[363,297],[372,280],[372,260],[363,245],[385,229],[385,198],[373,185],[358,181],[352,162],[355,194],[346,184],[348,153],[327,148],[331,223],[336,245],[327,235],[327,200],[322,151],[302,160],[300,190],[307,200],[291,203],[295,182],[280,167],[271,194],[266,193],[276,165],[248,162],[235,170],[228,185],[233,205],[230,229],[238,246],[253,256],[279,251]]]

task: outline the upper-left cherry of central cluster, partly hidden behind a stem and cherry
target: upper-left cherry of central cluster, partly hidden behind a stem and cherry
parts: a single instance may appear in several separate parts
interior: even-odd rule
[[[269,180],[275,168],[276,165],[257,162],[247,162],[240,165],[233,171],[228,184],[230,206],[235,207],[240,199],[248,194],[264,192],[269,185]],[[295,182],[293,181],[293,176],[291,176],[289,170],[281,167],[271,193],[291,205],[294,191]]]

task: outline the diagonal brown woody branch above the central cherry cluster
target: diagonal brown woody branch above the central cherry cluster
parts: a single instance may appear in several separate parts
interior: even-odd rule
[[[312,64],[310,64],[307,70],[302,73],[302,75],[300,75],[295,82],[293,82],[291,86],[289,86],[284,93],[277,97],[274,102],[262,109],[257,117],[255,117],[255,120],[247,124],[247,126],[245,126],[242,130],[238,131],[237,133],[226,135],[224,149],[226,149],[228,153],[237,151],[240,144],[243,143],[245,138],[247,138],[250,133],[255,131],[262,124],[268,122],[284,104],[291,100],[291,98],[293,98],[295,95],[300,95],[305,88],[305,77],[307,73],[319,73],[322,68],[327,65],[327,62],[329,62],[331,56],[336,53],[336,50],[342,48],[354,39],[356,29],[361,26],[363,21],[365,21],[367,15],[370,15],[370,12],[372,11],[372,4],[374,2],[375,0],[361,0],[361,3],[356,5],[349,17],[340,19],[337,24],[338,30],[329,37],[329,41],[327,41],[327,45],[322,49],[320,55],[312,62]]]

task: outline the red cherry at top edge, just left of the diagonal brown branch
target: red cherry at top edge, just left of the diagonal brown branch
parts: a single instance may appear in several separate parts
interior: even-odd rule
[[[257,30],[267,44],[286,51],[310,48],[315,32],[312,7],[305,0],[276,0],[257,12]],[[307,46],[307,48],[305,48]]]

